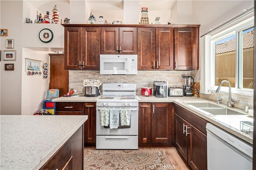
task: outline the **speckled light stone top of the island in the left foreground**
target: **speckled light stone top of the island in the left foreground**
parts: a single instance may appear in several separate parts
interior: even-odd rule
[[[87,119],[87,115],[0,115],[0,169],[40,169]]]

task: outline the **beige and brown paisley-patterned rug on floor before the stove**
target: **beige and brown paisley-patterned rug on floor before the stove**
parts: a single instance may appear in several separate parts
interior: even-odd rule
[[[173,170],[164,150],[88,150],[84,170]]]

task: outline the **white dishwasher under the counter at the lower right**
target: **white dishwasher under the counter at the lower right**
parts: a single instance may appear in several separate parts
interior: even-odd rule
[[[208,170],[252,170],[252,145],[206,124]]]

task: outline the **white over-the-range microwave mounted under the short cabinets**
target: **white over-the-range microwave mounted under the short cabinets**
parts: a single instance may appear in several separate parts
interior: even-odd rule
[[[137,74],[137,55],[100,55],[100,74]]]

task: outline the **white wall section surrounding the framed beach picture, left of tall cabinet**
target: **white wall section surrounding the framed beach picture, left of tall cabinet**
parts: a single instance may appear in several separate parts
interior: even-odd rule
[[[21,115],[32,115],[36,110],[43,107],[46,91],[49,89],[49,76],[43,78],[43,63],[49,65],[49,51],[34,51],[22,49],[22,94]],[[26,59],[30,58],[41,61],[42,75],[28,76],[25,71]]]

